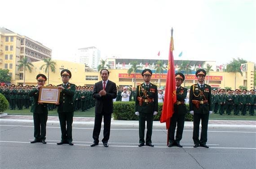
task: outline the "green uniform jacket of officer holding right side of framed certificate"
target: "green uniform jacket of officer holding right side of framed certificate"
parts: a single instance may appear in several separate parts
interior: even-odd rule
[[[59,84],[57,86],[63,86]],[[74,112],[75,111],[75,84],[68,83],[64,90],[61,90],[60,101],[57,106],[57,112]]]

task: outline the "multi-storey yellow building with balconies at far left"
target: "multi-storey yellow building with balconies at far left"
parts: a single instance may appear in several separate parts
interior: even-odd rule
[[[26,36],[6,28],[0,28],[0,68],[9,69],[11,83],[23,79],[23,70],[18,70],[18,61],[27,57],[30,62],[50,58],[52,50]]]

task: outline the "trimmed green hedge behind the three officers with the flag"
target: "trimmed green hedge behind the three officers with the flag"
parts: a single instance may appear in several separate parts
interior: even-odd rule
[[[187,110],[189,105],[186,104]],[[154,121],[159,121],[163,109],[163,103],[158,103],[158,114],[154,115]],[[138,120],[135,115],[135,102],[134,101],[115,101],[113,117],[115,120]],[[185,121],[193,121],[193,115],[185,114]]]

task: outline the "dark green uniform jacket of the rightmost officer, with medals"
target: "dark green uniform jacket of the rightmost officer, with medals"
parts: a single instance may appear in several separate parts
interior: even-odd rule
[[[203,92],[203,94],[200,94],[200,91]],[[190,111],[194,111],[194,114],[207,114],[209,111],[212,111],[212,93],[211,93],[211,86],[207,84],[203,84],[203,89],[200,88],[198,84],[193,84],[190,87]],[[208,100],[207,103],[199,104],[199,109],[197,109],[194,104],[192,103],[192,100],[199,100],[203,101],[204,97],[206,97],[206,100]]]

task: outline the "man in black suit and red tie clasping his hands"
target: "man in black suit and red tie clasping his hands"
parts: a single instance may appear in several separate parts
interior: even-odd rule
[[[102,69],[100,73],[102,80],[95,83],[93,87],[93,98],[96,100],[96,106],[93,128],[94,141],[93,144],[91,144],[91,147],[99,144],[102,116],[104,116],[104,131],[102,143],[105,147],[108,147],[111,114],[113,113],[113,99],[115,99],[117,95],[116,84],[108,80],[109,71],[107,69]]]

